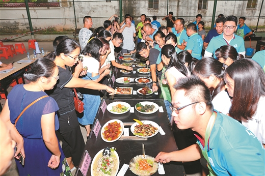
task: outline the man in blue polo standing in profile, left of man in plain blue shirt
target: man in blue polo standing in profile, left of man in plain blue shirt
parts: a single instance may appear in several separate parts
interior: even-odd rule
[[[177,18],[174,27],[168,27],[169,32],[175,34],[177,37],[177,53],[183,51],[186,48],[184,42],[187,42],[189,40],[186,29],[184,28],[184,24],[185,21],[183,18]]]

